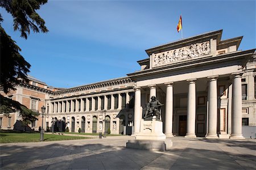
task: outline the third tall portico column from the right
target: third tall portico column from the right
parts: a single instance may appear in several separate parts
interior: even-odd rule
[[[188,80],[188,111],[187,111],[187,134],[186,138],[196,138],[196,83],[193,80]]]

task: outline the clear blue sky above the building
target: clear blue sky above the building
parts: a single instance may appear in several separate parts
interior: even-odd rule
[[[243,36],[255,48],[255,1],[48,1],[38,13],[48,33],[28,39],[13,31],[3,8],[2,27],[31,64],[30,75],[49,86],[75,87],[139,70],[144,50],[183,37],[223,29],[222,40]]]

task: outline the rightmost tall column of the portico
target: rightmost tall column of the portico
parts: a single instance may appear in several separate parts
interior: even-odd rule
[[[230,138],[244,139],[242,135],[242,83],[241,75],[233,79],[232,88],[232,132]]]

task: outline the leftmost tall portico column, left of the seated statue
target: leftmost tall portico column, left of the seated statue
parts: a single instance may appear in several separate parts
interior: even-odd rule
[[[135,102],[134,102],[134,134],[139,133],[141,124],[141,88],[135,88]]]

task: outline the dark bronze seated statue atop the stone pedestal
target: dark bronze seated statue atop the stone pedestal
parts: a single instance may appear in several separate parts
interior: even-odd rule
[[[156,116],[156,120],[160,121],[160,107],[162,107],[163,104],[161,104],[155,96],[151,97],[150,103],[147,104],[146,107],[146,113],[143,116],[144,120],[152,120],[153,116]]]

